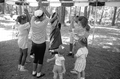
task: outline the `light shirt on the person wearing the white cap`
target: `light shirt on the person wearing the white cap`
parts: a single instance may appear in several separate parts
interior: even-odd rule
[[[31,40],[36,44],[41,44],[46,41],[46,27],[49,19],[46,18],[42,22],[35,22],[35,17],[31,19]]]

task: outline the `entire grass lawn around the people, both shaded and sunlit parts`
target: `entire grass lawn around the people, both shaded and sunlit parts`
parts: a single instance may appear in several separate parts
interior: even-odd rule
[[[66,74],[64,75],[64,79],[76,79],[76,75],[70,73],[70,70],[73,69],[75,60],[74,58],[66,56],[69,52],[68,27],[63,27],[61,32],[65,45],[64,56],[66,58],[65,65],[67,70]],[[89,43],[88,48],[89,54],[87,57],[87,66],[85,70],[86,79],[120,79],[119,34],[119,29],[109,27],[96,28],[94,43]],[[1,35],[3,34],[0,34],[0,36]],[[89,37],[89,42],[91,42],[91,37]],[[28,53],[30,53],[30,48],[31,41],[29,41]],[[17,70],[18,57],[19,48],[16,39],[0,42],[0,79],[36,79],[31,75],[33,59],[28,57],[31,62],[26,63],[25,65],[25,67],[28,69],[27,72],[19,72]],[[53,79],[52,68],[54,62],[46,62],[46,59],[50,57],[51,56],[46,50],[43,66],[43,72],[46,73],[46,75],[41,79]]]

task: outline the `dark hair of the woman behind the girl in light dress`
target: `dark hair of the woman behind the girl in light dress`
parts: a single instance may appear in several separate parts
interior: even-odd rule
[[[88,19],[85,16],[77,17],[78,21],[80,21],[83,28],[86,28],[86,31],[90,30],[90,26],[88,25]]]

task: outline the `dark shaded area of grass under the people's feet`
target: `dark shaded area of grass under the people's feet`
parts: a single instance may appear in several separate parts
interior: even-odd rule
[[[48,48],[47,43],[47,48]],[[64,45],[65,58],[66,58],[66,74],[65,79],[76,79],[76,75],[70,73],[70,70],[74,67],[74,58],[67,57],[69,52],[69,46]],[[31,41],[29,41],[30,53]],[[31,76],[32,62],[27,63],[25,66],[28,72],[19,72],[17,70],[17,62],[19,57],[19,48],[17,46],[17,40],[10,40],[6,42],[0,42],[0,77],[1,79],[36,79]],[[54,61],[47,63],[47,58],[51,58],[48,50],[46,50],[44,58],[43,72],[46,76],[42,79],[52,79],[52,68]],[[112,51],[107,51],[103,48],[95,48],[89,46],[89,54],[87,57],[86,66],[86,79],[120,79],[120,54]]]

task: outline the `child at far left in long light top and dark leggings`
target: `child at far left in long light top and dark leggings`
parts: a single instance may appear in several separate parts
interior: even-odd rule
[[[26,22],[27,17],[25,15],[21,15],[18,17],[18,46],[20,48],[20,57],[19,57],[19,64],[18,69],[20,71],[26,71],[24,68],[27,51],[28,51],[28,34],[29,34],[29,22]]]

